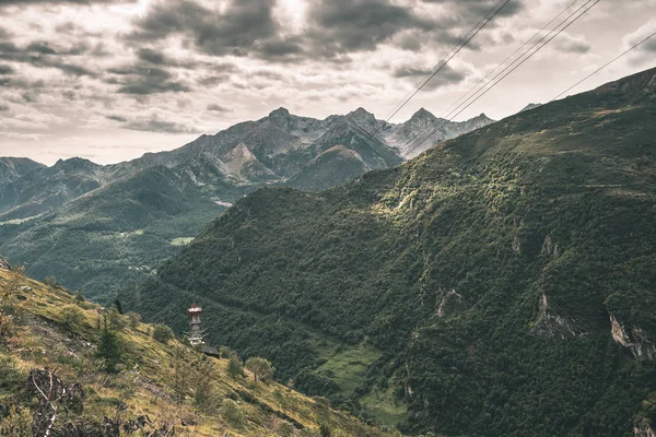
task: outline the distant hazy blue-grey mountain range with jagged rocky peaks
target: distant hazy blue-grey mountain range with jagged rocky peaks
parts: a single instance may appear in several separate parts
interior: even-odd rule
[[[359,108],[324,120],[279,108],[171,152],[114,165],[0,161],[0,252],[35,277],[55,275],[103,298],[137,284],[209,221],[259,187],[313,190],[403,162],[492,122],[449,122],[421,109],[403,123]],[[375,134],[371,134],[375,132]]]

